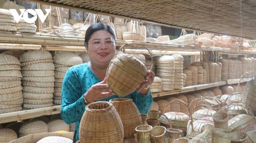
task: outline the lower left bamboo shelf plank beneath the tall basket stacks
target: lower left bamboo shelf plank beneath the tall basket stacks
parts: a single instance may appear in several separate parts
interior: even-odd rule
[[[38,109],[28,109],[16,112],[1,113],[0,114],[0,124],[14,122],[18,120],[26,120],[31,118],[36,118],[46,115],[54,115],[60,113],[60,105],[55,105],[51,107],[38,108]]]

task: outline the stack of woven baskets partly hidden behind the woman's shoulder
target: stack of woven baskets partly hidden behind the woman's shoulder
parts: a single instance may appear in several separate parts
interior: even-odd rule
[[[59,105],[61,104],[61,86],[64,76],[70,67],[82,64],[82,59],[73,52],[59,52],[53,56],[53,63],[55,66],[53,103]]]

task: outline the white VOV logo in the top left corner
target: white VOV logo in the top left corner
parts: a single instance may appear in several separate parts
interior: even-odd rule
[[[46,17],[49,15],[51,9],[45,9],[46,15],[42,12],[41,9],[19,9],[21,12],[20,15],[16,11],[16,9],[9,9],[12,16],[14,17],[14,20],[18,23],[20,18],[23,17],[23,19],[28,23],[33,23],[36,21],[37,16],[41,20],[42,23],[45,22]],[[29,18],[29,13],[33,15],[33,17]]]

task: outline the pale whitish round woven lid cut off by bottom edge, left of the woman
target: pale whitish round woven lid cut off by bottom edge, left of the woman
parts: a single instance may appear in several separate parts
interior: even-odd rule
[[[40,140],[38,140],[36,143],[72,143],[73,140],[69,139],[67,137],[62,136],[47,136]]]

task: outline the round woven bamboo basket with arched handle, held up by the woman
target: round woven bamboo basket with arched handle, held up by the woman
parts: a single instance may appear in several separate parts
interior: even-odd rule
[[[139,43],[127,43],[122,45],[118,51],[132,44],[146,48]],[[140,84],[145,81],[146,74],[147,70],[145,65],[135,58],[135,56],[120,53],[116,54],[111,60],[106,72],[106,83],[109,84],[109,88],[112,89],[117,96],[125,96],[133,93],[140,87]]]

